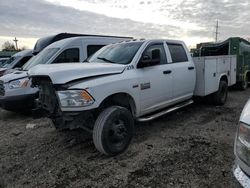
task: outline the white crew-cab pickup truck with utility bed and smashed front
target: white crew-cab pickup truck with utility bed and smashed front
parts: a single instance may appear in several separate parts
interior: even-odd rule
[[[82,128],[97,150],[116,155],[129,145],[134,120],[149,121],[210,95],[227,99],[235,83],[234,56],[193,61],[175,40],[139,40],[103,47],[82,64],[38,65],[29,70],[39,105],[56,128]]]

